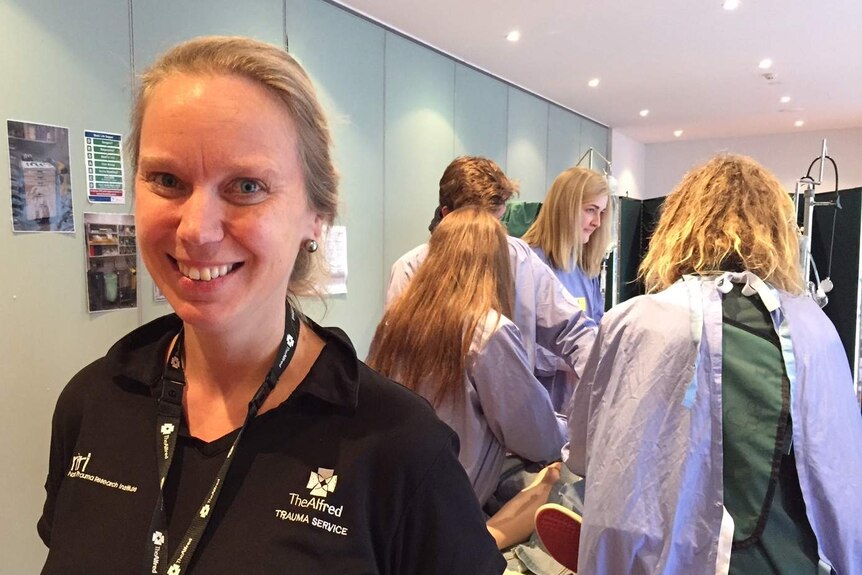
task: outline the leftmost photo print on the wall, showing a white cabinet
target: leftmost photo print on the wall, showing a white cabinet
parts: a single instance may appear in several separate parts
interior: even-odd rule
[[[12,230],[74,232],[69,130],[6,120]]]

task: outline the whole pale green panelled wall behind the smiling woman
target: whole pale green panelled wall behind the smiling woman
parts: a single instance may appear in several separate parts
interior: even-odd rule
[[[605,126],[322,0],[0,2],[0,120],[68,129],[75,222],[70,233],[15,233],[11,204],[0,201],[4,573],[35,573],[44,560],[35,522],[63,386],[119,337],[171,311],[154,301],[137,262],[137,307],[88,313],[83,214],[132,213],[133,196],[88,203],[84,131],[126,134],[134,75],[203,34],[285,45],[318,89],[341,175],[348,293],[303,305],[345,329],[360,356],[383,311],[389,267],[427,240],[437,182],[455,156],[494,159],[532,201],[588,147],[610,156]],[[4,129],[2,182],[12,177],[8,136]]]

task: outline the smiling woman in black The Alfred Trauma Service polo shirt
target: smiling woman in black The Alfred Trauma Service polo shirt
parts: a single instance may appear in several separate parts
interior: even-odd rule
[[[129,152],[138,245],[176,313],[60,395],[42,573],[499,574],[454,432],[299,310],[338,178],[294,58],[171,48]]]

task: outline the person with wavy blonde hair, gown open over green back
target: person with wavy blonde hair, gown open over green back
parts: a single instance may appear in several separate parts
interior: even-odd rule
[[[579,540],[540,529],[578,573],[862,573],[862,418],[797,233],[747,157],[713,158],[665,201],[648,294],[605,315],[572,398]]]

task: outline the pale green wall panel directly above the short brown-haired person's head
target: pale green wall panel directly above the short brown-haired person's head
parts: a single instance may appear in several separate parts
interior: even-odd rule
[[[506,170],[509,90],[501,81],[455,65],[455,155],[484,156]]]

